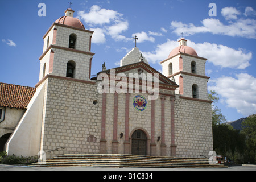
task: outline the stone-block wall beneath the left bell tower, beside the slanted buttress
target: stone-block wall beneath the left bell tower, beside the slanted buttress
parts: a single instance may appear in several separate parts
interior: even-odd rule
[[[101,95],[93,82],[71,79],[47,79],[42,150],[66,147],[66,154],[98,154]]]

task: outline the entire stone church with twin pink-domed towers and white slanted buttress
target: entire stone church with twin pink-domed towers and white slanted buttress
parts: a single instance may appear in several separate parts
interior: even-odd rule
[[[182,38],[161,62],[163,73],[152,68],[135,47],[120,67],[102,69],[90,78],[93,31],[86,30],[73,13],[67,9],[43,36],[39,82],[6,143],[8,154],[33,156],[65,147],[47,153],[47,158],[59,154],[207,156],[213,150],[207,59],[197,56]]]

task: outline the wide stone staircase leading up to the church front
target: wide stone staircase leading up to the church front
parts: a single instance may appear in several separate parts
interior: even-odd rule
[[[46,160],[38,167],[143,167],[143,168],[224,168],[222,164],[210,165],[205,158],[176,158],[126,154],[64,154]]]

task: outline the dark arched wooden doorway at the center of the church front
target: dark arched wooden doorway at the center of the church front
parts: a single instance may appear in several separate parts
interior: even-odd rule
[[[131,135],[131,154],[147,155],[147,136],[142,130],[135,130]]]

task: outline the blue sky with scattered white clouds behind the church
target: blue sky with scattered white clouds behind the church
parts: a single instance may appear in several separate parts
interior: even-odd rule
[[[34,87],[39,81],[43,35],[69,7],[67,0],[1,2],[0,82]],[[119,66],[137,47],[151,67],[188,40],[207,58],[208,90],[228,121],[256,113],[256,1],[251,0],[73,0],[71,8],[85,29],[94,31],[92,75]],[[45,10],[39,6],[44,3]],[[42,14],[45,13],[45,14]],[[40,14],[44,15],[41,16]],[[40,15],[40,16],[39,16]]]

